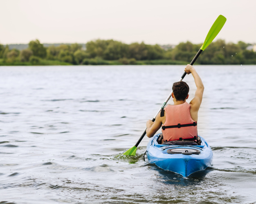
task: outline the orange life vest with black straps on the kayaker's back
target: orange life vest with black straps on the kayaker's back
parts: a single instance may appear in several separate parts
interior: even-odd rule
[[[190,104],[168,105],[162,125],[164,141],[193,139],[197,137],[197,123],[191,118]]]

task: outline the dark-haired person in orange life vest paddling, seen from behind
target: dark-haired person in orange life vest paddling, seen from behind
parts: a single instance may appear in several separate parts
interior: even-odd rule
[[[195,97],[187,103],[189,86],[186,82],[175,82],[172,93],[174,105],[167,105],[162,109],[155,118],[155,122],[148,120],[146,123],[148,137],[153,137],[162,126],[163,141],[161,144],[173,140],[197,140],[198,110],[202,102],[204,84],[190,64],[185,67],[184,71],[193,75],[197,87]]]

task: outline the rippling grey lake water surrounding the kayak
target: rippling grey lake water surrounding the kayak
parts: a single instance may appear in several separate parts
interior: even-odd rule
[[[194,67],[213,165],[187,178],[144,162],[147,137],[122,155],[184,66],[0,67],[0,204],[256,203],[256,66]]]

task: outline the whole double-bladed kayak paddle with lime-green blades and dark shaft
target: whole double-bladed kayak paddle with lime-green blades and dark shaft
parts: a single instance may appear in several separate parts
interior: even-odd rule
[[[202,53],[202,51],[204,51],[204,49],[206,49],[208,47],[209,44],[211,44],[211,42],[213,41],[213,39],[218,35],[218,33],[220,32],[220,30],[222,29],[222,27],[224,26],[225,22],[226,22],[226,18],[222,15],[218,16],[218,18],[216,19],[216,21],[213,23],[213,25],[211,26],[211,29],[209,30],[205,40],[204,40],[204,44],[202,45],[202,47],[199,49],[198,53],[196,53],[195,57],[193,58],[193,60],[190,62],[191,65],[194,64],[195,60],[198,58],[198,56]],[[184,79],[184,77],[186,76],[186,72],[183,73],[182,77],[180,78],[180,81],[182,81]],[[161,108],[157,111],[157,113],[155,114],[155,117],[152,119],[152,121],[155,121],[155,118],[157,117],[157,114],[161,111],[162,108],[164,108],[164,106],[166,105],[166,103],[168,102],[168,100],[171,98],[173,91],[171,91],[170,95],[168,95],[168,97],[166,98],[166,100],[164,101],[164,103],[162,104]],[[135,144],[135,146],[133,146],[132,148],[128,149],[124,155],[135,155],[136,154],[136,150],[137,150],[137,146],[139,145],[139,143],[141,142],[141,140],[143,139],[143,137],[146,135],[146,130],[144,131],[144,133],[141,135],[141,137],[139,138],[138,142]]]

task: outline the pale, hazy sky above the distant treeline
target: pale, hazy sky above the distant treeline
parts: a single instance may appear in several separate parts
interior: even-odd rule
[[[0,0],[0,44],[199,44],[220,14],[216,39],[256,43],[255,0]]]

